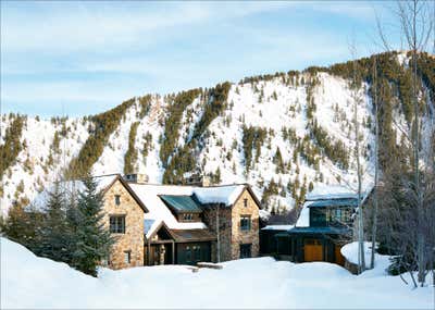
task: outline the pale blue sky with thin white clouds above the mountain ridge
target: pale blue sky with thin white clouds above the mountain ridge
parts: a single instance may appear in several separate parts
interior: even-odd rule
[[[380,51],[391,2],[4,2],[2,112],[85,115],[134,96]],[[389,7],[388,7],[389,5]],[[390,38],[397,37],[390,34]]]

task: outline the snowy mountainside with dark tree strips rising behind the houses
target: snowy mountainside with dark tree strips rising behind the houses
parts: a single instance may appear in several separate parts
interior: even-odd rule
[[[250,183],[269,210],[290,209],[316,184],[356,182],[355,102],[368,184],[373,59],[134,97],[77,119],[1,115],[1,211],[28,203],[62,171],[69,177],[140,172],[150,183],[183,183],[200,171],[215,184]],[[408,61],[405,52],[377,55],[383,162],[402,149],[396,126],[408,128],[412,119]],[[361,82],[355,91],[353,69]],[[434,58],[421,54],[419,82],[430,90],[423,95],[434,92]]]

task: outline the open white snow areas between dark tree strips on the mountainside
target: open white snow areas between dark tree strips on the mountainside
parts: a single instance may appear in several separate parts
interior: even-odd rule
[[[291,79],[291,82],[289,82]],[[311,87],[310,80],[318,83]],[[358,119],[361,123],[361,147],[364,152],[361,157],[362,170],[365,172],[363,182],[370,184],[373,175],[373,135],[368,126],[368,120],[372,114],[372,103],[368,96],[368,85],[362,85],[358,91]],[[263,190],[273,179],[279,185],[281,195],[272,195],[268,209],[291,209],[295,203],[294,194],[287,184],[299,183],[301,186],[306,181],[308,187],[310,183],[316,185],[353,184],[356,182],[356,161],[350,156],[349,169],[340,169],[324,153],[321,154],[319,166],[309,164],[295,149],[295,145],[285,140],[283,128],[294,131],[296,138],[301,141],[310,136],[309,120],[307,116],[308,97],[312,94],[312,101],[316,109],[313,119],[318,125],[327,132],[331,140],[343,141],[348,153],[355,146],[355,135],[352,128],[352,109],[355,99],[349,88],[349,80],[333,76],[328,73],[310,74],[300,73],[295,76],[285,75],[270,79],[257,82],[232,84],[228,97],[227,109],[215,117],[207,128],[207,135],[201,137],[202,147],[195,152],[197,168],[202,169],[203,173],[215,173],[217,169],[221,173],[221,184],[249,183],[261,198]],[[127,109],[120,125],[110,135],[108,144],[98,161],[92,166],[95,174],[123,173],[124,157],[128,148],[128,135],[130,126],[139,122],[135,138],[135,149],[137,161],[133,165],[138,172],[145,173],[150,183],[161,183],[164,168],[159,158],[161,141],[165,137],[165,120],[169,113],[169,99],[162,96],[152,96],[150,110],[145,116],[140,116],[138,111],[140,104],[136,102]],[[204,112],[208,99],[198,96],[191,104],[183,112],[176,148],[182,148],[190,139],[195,125]],[[400,111],[396,111],[398,122],[402,120]],[[2,128],[9,125],[7,115],[1,117]],[[37,121],[27,117],[26,126],[23,131],[21,140],[26,141],[26,148],[20,153],[17,162],[10,166],[2,176],[0,193],[1,210],[4,213],[14,200],[27,198],[30,201],[36,197],[37,190],[46,187],[52,182],[57,173],[67,166],[71,159],[78,153],[85,144],[89,133],[89,122],[84,119],[69,119],[67,126],[72,131],[67,134],[67,139],[61,138],[59,154],[54,156],[51,165],[47,165],[53,135],[61,131],[61,124],[53,124],[50,121]],[[244,126],[254,126],[266,131],[264,144],[261,146],[261,154],[258,162],[252,162],[253,166],[247,173],[246,158],[244,152],[243,133]],[[151,142],[147,146],[148,152],[144,157],[146,146],[146,135],[151,136]],[[0,141],[2,144],[3,141]],[[316,141],[311,138],[310,146],[315,146]],[[370,145],[372,146],[371,148]],[[65,148],[65,156],[62,150]],[[277,173],[273,158],[279,149],[283,162],[289,169]],[[256,153],[252,150],[253,154]],[[29,158],[33,171],[25,171],[24,162]],[[295,162],[296,159],[296,162]],[[16,193],[21,182],[24,182],[23,193]],[[297,190],[299,195],[300,189]]]

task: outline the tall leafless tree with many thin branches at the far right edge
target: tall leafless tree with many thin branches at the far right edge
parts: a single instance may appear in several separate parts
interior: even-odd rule
[[[395,12],[399,22],[399,28],[411,54],[409,66],[412,71],[413,107],[411,126],[403,129],[396,124],[408,140],[412,166],[412,176],[409,178],[401,177],[403,187],[399,190],[403,191],[401,193],[402,201],[406,201],[408,206],[403,207],[400,206],[400,203],[396,206],[398,214],[405,216],[402,219],[396,219],[398,221],[396,225],[402,225],[402,230],[406,232],[403,234],[398,234],[400,241],[398,241],[396,246],[398,246],[401,251],[402,260],[411,264],[407,266],[411,276],[412,270],[418,270],[418,282],[421,283],[421,285],[425,282],[427,266],[430,263],[433,263],[434,251],[434,246],[432,245],[433,224],[428,224],[430,226],[427,226],[427,221],[434,220],[434,218],[432,218],[434,187],[433,177],[431,176],[433,171],[430,170],[430,168],[433,170],[434,158],[433,154],[428,154],[431,153],[428,150],[431,150],[430,145],[434,135],[434,109],[433,102],[431,102],[431,96],[427,95],[424,85],[420,87],[422,83],[420,83],[421,79],[418,75],[418,59],[421,57],[421,52],[425,51],[427,48],[427,42],[435,23],[435,17],[431,12],[428,3],[428,1],[422,0],[398,1],[397,11]],[[376,22],[384,48],[390,50],[380,18],[376,18]],[[428,100],[426,100],[426,98],[428,98]],[[426,109],[422,109],[422,106]],[[426,128],[430,135],[426,136],[424,140],[421,139],[423,126],[430,126],[430,128]],[[397,201],[400,200],[396,200],[396,203]],[[412,208],[410,209],[409,207]],[[403,222],[406,222],[406,224],[403,224]],[[409,256],[412,256],[412,258]],[[415,263],[415,265],[412,265],[413,263]],[[414,281],[413,276],[412,280]],[[414,285],[417,285],[415,281]]]

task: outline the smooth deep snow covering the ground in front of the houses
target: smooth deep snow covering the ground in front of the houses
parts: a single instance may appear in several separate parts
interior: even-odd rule
[[[376,268],[361,275],[325,262],[256,258],[196,273],[185,265],[101,269],[94,278],[37,258],[5,238],[0,245],[4,309],[433,309],[434,305],[433,288],[412,289],[398,276],[387,275],[387,258],[381,256]]]

